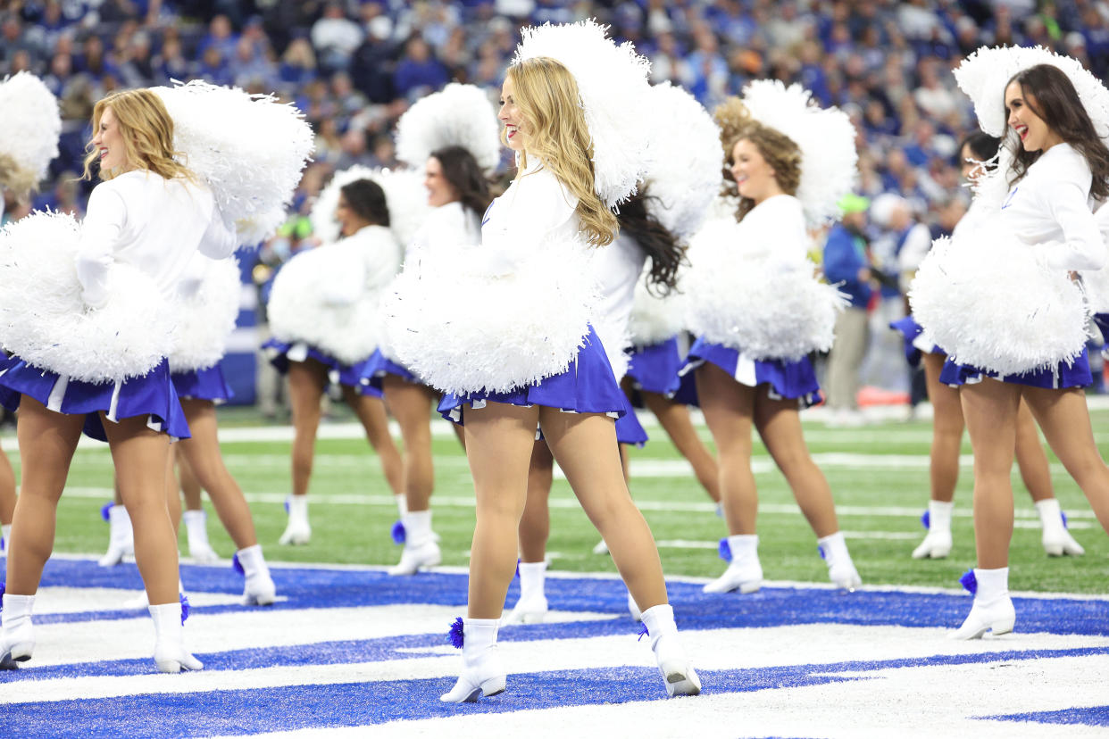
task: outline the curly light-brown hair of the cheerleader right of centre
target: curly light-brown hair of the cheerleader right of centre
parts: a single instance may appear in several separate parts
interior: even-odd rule
[[[765,126],[754,117],[739,97],[729,97],[713,111],[713,119],[720,126],[720,143],[724,146],[724,195],[736,197],[740,205],[735,211],[735,219],[744,216],[755,207],[750,197],[741,197],[735,177],[732,176],[732,152],[735,144],[746,140],[754,144],[766,164],[774,170],[774,179],[786,195],[796,195],[801,186],[801,147],[796,142],[776,129]]]

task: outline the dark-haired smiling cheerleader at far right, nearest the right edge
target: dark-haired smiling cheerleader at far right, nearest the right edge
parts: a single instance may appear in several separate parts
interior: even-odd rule
[[[1109,90],[1077,61],[1042,49],[979,50],[956,80],[974,97],[983,130],[1004,131],[998,171],[979,185],[978,196],[990,197],[996,185],[1007,193],[987,201],[989,217],[966,244],[933,248],[910,298],[925,330],[950,350],[940,381],[963,386],[975,456],[978,566],[964,576],[974,605],[953,636],[973,639],[1011,632],[1016,620],[1008,594],[1009,474],[1021,398],[1109,531],[1109,468],[1082,391],[1091,382],[1088,309],[1068,278],[1106,264],[1088,201],[1109,196],[1109,148],[1097,133],[1109,124]],[[1010,281],[1015,276],[1020,281]],[[1004,304],[995,302],[999,289],[1018,284],[1019,294],[1010,288]],[[975,299],[977,315],[960,306],[967,298]]]

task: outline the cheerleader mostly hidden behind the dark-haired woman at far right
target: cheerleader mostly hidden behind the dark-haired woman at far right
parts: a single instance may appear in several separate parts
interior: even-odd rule
[[[980,131],[967,136],[959,145],[959,162],[963,177],[971,184],[983,172],[985,162],[997,157],[1000,141]],[[973,230],[975,224],[983,217],[985,204],[974,201],[963,219],[955,226],[953,238],[958,239],[966,230]],[[930,243],[929,243],[930,245]],[[903,255],[904,256],[904,255]],[[920,255],[923,257],[924,255]],[[905,265],[909,270],[919,266],[919,259]],[[929,340],[920,325],[909,314],[899,321],[889,325],[901,331],[905,338],[905,356],[913,367],[924,365],[924,376],[928,388],[928,400],[932,401],[932,450],[929,453],[929,478],[932,482],[932,499],[928,501],[927,527],[924,541],[913,550],[913,558],[935,560],[946,557],[952,551],[952,510],[954,507],[955,483],[959,474],[959,449],[963,445],[963,408],[959,404],[957,388],[950,388],[939,381],[939,373],[947,360],[947,355]],[[1049,556],[1064,554],[1081,555],[1085,550],[1075,541],[1064,525],[1059,501],[1051,490],[1051,473],[1048,470],[1047,455],[1040,445],[1036,422],[1027,403],[1021,401],[1017,414],[1016,434],[1017,465],[1025,487],[1031,495],[1032,503],[1039,512],[1042,525],[1041,543]]]

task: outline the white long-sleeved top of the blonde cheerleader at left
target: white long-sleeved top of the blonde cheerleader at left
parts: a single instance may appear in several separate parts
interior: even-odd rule
[[[235,245],[210,189],[128,172],[100,183],[89,197],[77,255],[82,298],[94,308],[108,301],[109,269],[116,261],[133,265],[172,295],[197,249],[222,259]]]

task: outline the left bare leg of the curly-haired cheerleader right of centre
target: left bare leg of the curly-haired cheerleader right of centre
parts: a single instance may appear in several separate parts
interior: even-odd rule
[[[720,500],[730,534],[752,535],[759,513],[759,493],[751,472],[753,388],[740,384],[710,363],[696,369],[698,397],[704,420],[716,443]]]

